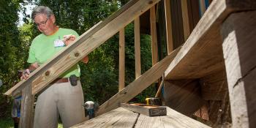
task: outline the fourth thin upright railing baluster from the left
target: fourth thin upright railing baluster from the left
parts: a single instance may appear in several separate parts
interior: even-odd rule
[[[172,18],[170,13],[170,0],[165,0],[165,28],[168,55],[173,51]]]

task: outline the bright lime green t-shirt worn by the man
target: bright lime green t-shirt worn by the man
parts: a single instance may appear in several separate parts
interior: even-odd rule
[[[45,34],[39,34],[37,37],[34,38],[34,40],[31,43],[29,49],[28,63],[33,64],[37,62],[39,66],[44,64],[56,53],[58,53],[59,50],[65,47],[56,46],[54,45],[54,42],[56,42],[56,40],[58,39],[62,40],[64,35],[69,34],[75,35],[75,37],[79,37],[76,31],[72,29],[62,28],[59,28],[59,30],[56,31],[55,34],[50,36],[46,36]],[[80,67],[78,64],[75,64],[73,67],[67,70],[67,72],[64,72],[64,74],[62,74],[60,78],[69,78],[70,75],[76,75],[77,77],[80,77]]]

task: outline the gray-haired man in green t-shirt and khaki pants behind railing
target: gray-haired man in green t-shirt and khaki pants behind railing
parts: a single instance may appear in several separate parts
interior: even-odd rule
[[[35,7],[31,17],[42,34],[31,43],[28,59],[31,66],[21,77],[24,79],[29,78],[31,70],[37,69],[78,37],[75,31],[56,26],[56,18],[48,7]],[[82,61],[87,63],[89,58],[86,56]],[[83,90],[78,77],[80,68],[75,65],[39,94],[34,115],[35,128],[57,127],[59,116],[64,127],[72,127],[85,120]]]

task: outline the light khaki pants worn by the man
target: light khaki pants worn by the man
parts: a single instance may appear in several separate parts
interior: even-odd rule
[[[54,83],[39,94],[34,115],[34,128],[56,128],[61,117],[63,127],[72,127],[85,121],[83,90],[80,81],[77,86]]]

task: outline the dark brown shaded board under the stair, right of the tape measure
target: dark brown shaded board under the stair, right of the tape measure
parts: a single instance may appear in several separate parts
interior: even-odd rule
[[[205,101],[200,97],[200,85],[197,80],[165,80],[165,105],[192,116]]]

